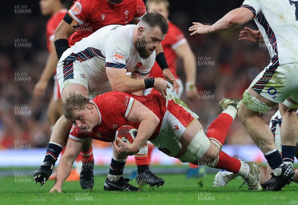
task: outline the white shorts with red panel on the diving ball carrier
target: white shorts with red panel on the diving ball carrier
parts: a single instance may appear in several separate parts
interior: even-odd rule
[[[159,134],[150,141],[163,153],[175,157],[182,148],[180,142],[182,134],[199,116],[192,112],[181,100],[171,98],[170,95],[167,98],[167,111],[163,116]],[[210,140],[206,135],[200,137],[200,144],[210,144]],[[200,147],[200,149],[202,149],[200,150],[202,156],[206,153],[208,148],[208,146]],[[194,162],[198,160],[198,158],[193,156],[189,151],[186,151],[186,153],[178,159],[182,162]]]

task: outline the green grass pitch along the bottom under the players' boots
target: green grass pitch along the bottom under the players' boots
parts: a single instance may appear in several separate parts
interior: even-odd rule
[[[1,205],[298,205],[298,184],[286,186],[280,192],[251,192],[247,185],[240,190],[243,180],[232,180],[224,188],[213,188],[215,174],[206,178],[186,179],[185,175],[158,175],[165,180],[163,187],[143,191],[103,191],[105,176],[95,177],[92,191],[81,190],[79,182],[65,182],[63,193],[48,193],[54,181],[40,187],[33,177],[17,175],[0,178]],[[137,186],[137,182],[131,182]]]

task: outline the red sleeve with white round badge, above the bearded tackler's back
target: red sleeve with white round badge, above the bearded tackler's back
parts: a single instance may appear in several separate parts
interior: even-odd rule
[[[90,19],[93,7],[94,0],[76,0],[68,13],[76,23],[82,24],[87,19]]]

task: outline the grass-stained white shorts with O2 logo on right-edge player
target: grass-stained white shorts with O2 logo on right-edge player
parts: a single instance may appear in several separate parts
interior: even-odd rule
[[[298,102],[298,64],[270,63],[249,86],[266,99],[282,103],[288,97]]]

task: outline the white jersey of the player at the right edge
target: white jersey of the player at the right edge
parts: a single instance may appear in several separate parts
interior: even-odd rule
[[[273,66],[298,63],[298,1],[244,0],[260,29]]]

